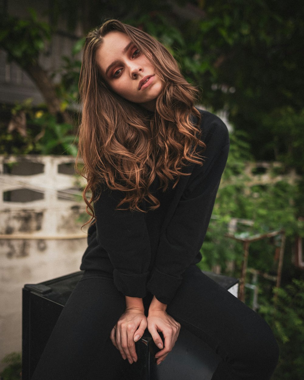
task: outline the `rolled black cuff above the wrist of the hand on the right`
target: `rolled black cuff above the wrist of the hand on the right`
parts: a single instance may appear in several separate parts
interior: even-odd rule
[[[147,283],[147,290],[154,294],[158,301],[168,305],[174,298],[181,282],[182,277],[174,277],[154,268]]]

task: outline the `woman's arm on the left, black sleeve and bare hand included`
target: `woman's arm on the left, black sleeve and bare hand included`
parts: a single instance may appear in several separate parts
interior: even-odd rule
[[[132,364],[137,361],[135,341],[147,328],[142,297],[146,295],[151,248],[144,213],[116,210],[122,196],[119,191],[103,189],[94,203],[94,211],[97,242],[106,250],[114,267],[114,283],[126,300],[125,312],[110,338],[122,358]]]

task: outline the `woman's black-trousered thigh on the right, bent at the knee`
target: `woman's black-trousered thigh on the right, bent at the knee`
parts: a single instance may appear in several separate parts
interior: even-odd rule
[[[258,366],[264,373],[266,367],[272,372],[277,344],[267,323],[196,266],[185,272],[167,311],[212,347],[233,374],[239,374],[234,378],[258,378]],[[242,377],[242,372],[255,374]],[[260,379],[264,378],[263,374]]]

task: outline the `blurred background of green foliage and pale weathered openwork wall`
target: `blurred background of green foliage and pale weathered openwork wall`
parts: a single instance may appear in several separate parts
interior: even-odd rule
[[[280,346],[273,380],[304,374],[304,7],[291,0],[3,0],[0,30],[0,360],[17,379],[21,289],[78,271],[84,182],[74,173],[84,36],[119,19],[155,36],[228,125],[231,151],[199,266]]]

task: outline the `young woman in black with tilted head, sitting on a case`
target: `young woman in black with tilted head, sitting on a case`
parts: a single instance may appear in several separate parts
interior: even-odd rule
[[[196,90],[163,45],[116,20],[87,36],[79,89],[85,272],[33,379],[123,379],[146,328],[160,364],[180,325],[222,357],[213,380],[269,379],[271,329],[195,265],[228,155],[225,125],[194,108]]]

